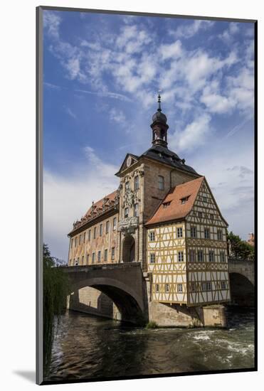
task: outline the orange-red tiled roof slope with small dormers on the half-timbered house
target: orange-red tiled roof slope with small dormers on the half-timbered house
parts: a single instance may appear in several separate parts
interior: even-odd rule
[[[171,188],[152,218],[147,221],[146,225],[185,218],[194,205],[196,195],[199,192],[203,181],[204,176],[201,176],[193,181],[181,183],[181,185]],[[186,203],[181,203],[181,199],[186,197],[188,197]],[[169,203],[169,205],[164,208],[164,203]]]

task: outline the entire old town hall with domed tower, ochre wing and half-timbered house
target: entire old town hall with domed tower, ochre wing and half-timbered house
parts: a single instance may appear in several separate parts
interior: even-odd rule
[[[117,190],[73,224],[68,265],[141,262],[154,302],[227,302],[228,224],[206,178],[168,149],[160,96],[150,126],[152,146],[127,154]]]

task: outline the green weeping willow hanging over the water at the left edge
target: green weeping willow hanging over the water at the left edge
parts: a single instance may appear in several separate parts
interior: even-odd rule
[[[44,376],[48,375],[54,336],[55,317],[65,310],[69,291],[67,275],[56,267],[48,245],[43,245],[43,365]]]

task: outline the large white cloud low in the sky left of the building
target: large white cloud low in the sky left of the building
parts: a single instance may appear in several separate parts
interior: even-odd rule
[[[85,215],[93,200],[115,191],[118,167],[107,164],[85,147],[87,162],[76,167],[68,176],[44,170],[43,175],[43,234],[55,257],[67,260],[68,237],[73,222]]]

